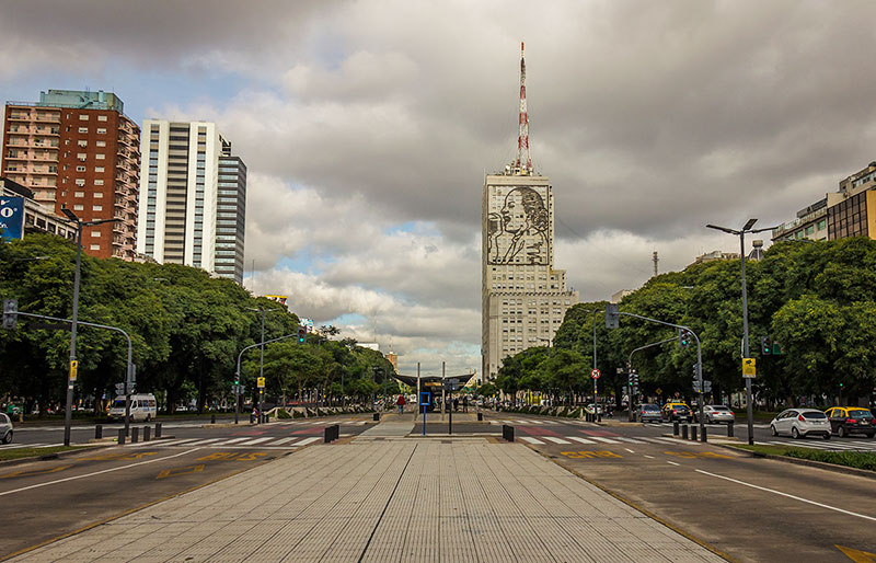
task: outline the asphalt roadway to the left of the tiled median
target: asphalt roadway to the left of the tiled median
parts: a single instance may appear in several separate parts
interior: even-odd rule
[[[374,423],[345,415],[265,425],[180,425],[174,438],[0,467],[0,559]]]

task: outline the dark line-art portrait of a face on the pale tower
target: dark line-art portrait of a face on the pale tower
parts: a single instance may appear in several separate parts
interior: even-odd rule
[[[491,264],[548,264],[550,214],[544,197],[531,187],[510,188],[502,208],[487,216],[487,262]]]

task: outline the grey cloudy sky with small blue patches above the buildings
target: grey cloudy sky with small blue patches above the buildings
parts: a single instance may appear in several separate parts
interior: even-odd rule
[[[214,120],[249,165],[246,287],[480,366],[481,192],[520,42],[556,263],[585,300],[736,250],[876,160],[872,1],[0,0],[0,94],[103,89]],[[255,278],[250,268],[255,261]]]

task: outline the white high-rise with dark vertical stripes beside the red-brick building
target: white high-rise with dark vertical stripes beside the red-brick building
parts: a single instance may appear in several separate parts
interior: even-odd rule
[[[137,252],[241,283],[246,166],[231,156],[231,145],[216,124],[146,119],[141,152],[148,168],[140,179]],[[233,233],[226,233],[232,225]],[[233,269],[228,267],[229,249]]]

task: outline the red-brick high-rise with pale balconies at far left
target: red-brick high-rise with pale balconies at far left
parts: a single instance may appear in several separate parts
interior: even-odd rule
[[[87,229],[83,250],[135,258],[140,129],[112,92],[49,90],[39,102],[7,102],[2,175],[60,215],[117,219]]]

